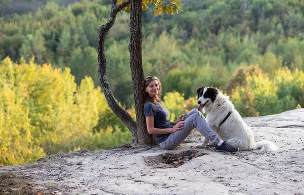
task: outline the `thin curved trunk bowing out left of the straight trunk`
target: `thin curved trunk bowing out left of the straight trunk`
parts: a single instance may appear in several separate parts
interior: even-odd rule
[[[141,2],[141,0],[140,0]],[[106,77],[106,60],[104,55],[104,42],[105,37],[109,29],[113,26],[116,20],[116,15],[125,7],[130,4],[130,0],[125,3],[116,6],[117,0],[112,0],[111,13],[108,21],[100,27],[98,36],[97,52],[98,52],[98,76],[102,91],[106,98],[106,101],[112,111],[125,123],[127,128],[131,131],[134,140],[138,140],[136,122],[132,119],[132,116],[123,109],[116,101],[108,83]],[[133,77],[133,75],[132,75]],[[134,84],[133,84],[134,85]],[[135,141],[137,142],[137,141]]]

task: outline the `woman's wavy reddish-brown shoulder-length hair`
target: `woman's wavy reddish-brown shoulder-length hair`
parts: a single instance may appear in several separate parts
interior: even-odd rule
[[[159,93],[157,95],[156,99],[150,98],[148,92],[145,92],[145,88],[150,84],[151,81],[157,81],[160,87]],[[156,76],[147,76],[145,79],[142,81],[141,88],[140,88],[140,100],[142,105],[144,105],[145,102],[149,101],[152,103],[157,104],[158,102],[162,102],[161,100],[161,95],[162,95],[162,84],[160,80]]]

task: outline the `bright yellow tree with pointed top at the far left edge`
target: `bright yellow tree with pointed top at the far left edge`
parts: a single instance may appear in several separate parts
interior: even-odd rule
[[[12,80],[17,74],[15,67],[10,58],[0,66],[0,166],[26,163],[43,154],[43,149],[33,144],[34,128],[30,125],[28,108],[22,104],[26,85]]]

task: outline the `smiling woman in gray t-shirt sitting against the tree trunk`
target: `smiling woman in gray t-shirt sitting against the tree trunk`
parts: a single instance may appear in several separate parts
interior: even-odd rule
[[[170,122],[168,110],[161,104],[162,84],[156,76],[147,76],[142,84],[140,96],[144,104],[144,114],[149,134],[154,134],[156,141],[164,149],[177,147],[196,128],[201,134],[215,143],[218,151],[237,152],[239,148],[222,141],[208,127],[201,112],[193,109],[182,114],[177,121]]]

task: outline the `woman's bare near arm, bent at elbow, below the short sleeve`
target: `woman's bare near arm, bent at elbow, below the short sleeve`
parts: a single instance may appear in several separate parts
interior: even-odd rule
[[[183,128],[184,121],[178,122],[173,128],[170,129],[157,129],[154,128],[154,115],[149,115],[146,117],[147,129],[149,134],[167,134],[167,133],[174,133],[177,130]]]

